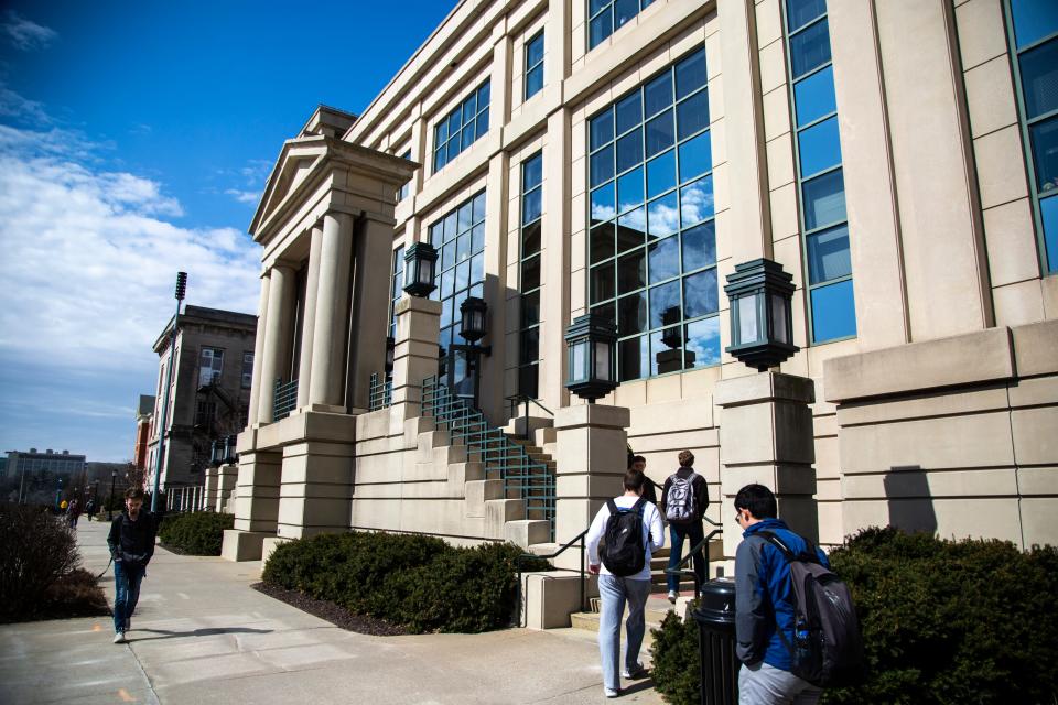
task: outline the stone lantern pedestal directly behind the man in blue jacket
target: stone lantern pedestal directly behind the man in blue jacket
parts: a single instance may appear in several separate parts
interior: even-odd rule
[[[814,383],[807,377],[764,372],[716,382],[720,416],[721,518],[735,495],[759,482],[778,499],[779,517],[794,531],[818,540],[816,446],[812,441]],[[733,557],[742,532],[724,525],[724,555]]]

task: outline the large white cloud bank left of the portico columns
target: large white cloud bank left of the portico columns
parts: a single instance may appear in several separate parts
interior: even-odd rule
[[[188,303],[253,312],[260,253],[234,228],[169,221],[180,203],[158,182],[106,171],[98,149],[0,126],[0,354],[139,375],[156,368],[176,271],[188,273]]]

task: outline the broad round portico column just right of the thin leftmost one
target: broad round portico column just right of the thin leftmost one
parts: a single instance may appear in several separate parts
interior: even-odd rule
[[[276,380],[290,367],[291,335],[294,324],[294,270],[285,263],[269,271],[268,313],[264,316],[264,349],[260,362],[260,390],[257,395],[258,423],[271,423],[276,403]],[[260,332],[258,332],[260,335]],[[255,371],[257,359],[253,360]]]

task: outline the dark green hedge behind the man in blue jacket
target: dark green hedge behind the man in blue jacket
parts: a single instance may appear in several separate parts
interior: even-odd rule
[[[856,603],[870,666],[827,704],[1054,703],[1058,549],[944,541],[867,529],[830,553]],[[654,677],[670,703],[698,703],[698,627],[655,630]]]

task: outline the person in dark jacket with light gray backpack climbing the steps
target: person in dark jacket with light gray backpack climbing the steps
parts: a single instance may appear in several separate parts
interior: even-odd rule
[[[683,557],[683,542],[690,547],[697,546],[705,536],[702,518],[709,507],[709,486],[705,478],[694,471],[694,454],[681,451],[678,456],[680,468],[665,480],[661,489],[661,511],[669,522],[669,570],[674,570]],[[705,558],[701,552],[694,554],[694,574],[698,584],[705,582]],[[666,575],[669,587],[669,601],[674,603],[679,594],[680,577],[671,573]]]

